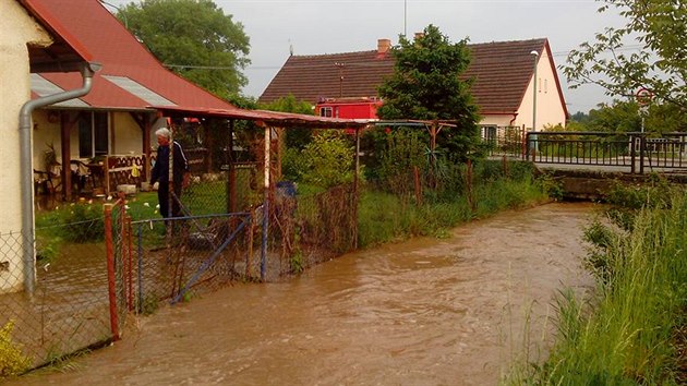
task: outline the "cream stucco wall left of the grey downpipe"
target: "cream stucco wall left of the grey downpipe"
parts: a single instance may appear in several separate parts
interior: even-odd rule
[[[14,0],[0,1],[0,292],[23,284],[19,113],[31,99],[27,44],[48,46],[50,36]],[[14,236],[8,236],[10,232]],[[7,268],[5,268],[7,267]]]

